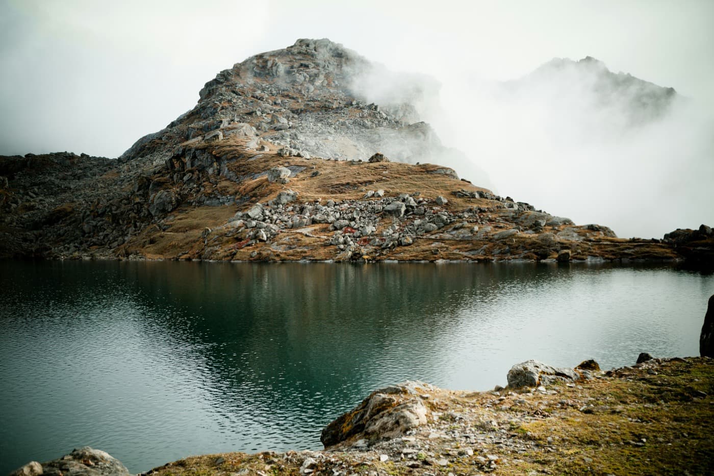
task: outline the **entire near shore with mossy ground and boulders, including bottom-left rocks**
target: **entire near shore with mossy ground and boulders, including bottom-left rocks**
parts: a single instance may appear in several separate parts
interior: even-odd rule
[[[372,392],[322,432],[322,451],[187,457],[143,473],[189,475],[709,474],[714,360],[653,359],[603,372],[528,361],[486,392],[405,382]],[[128,476],[89,447],[12,476]]]

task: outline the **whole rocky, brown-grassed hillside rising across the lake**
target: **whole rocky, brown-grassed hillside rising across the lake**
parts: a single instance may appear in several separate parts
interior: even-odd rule
[[[696,262],[710,253],[708,227],[678,241],[618,239],[460,179],[438,165],[458,152],[419,121],[420,86],[406,82],[388,104],[361,96],[376,68],[302,39],[221,71],[191,111],[119,159],[0,157],[0,256]]]

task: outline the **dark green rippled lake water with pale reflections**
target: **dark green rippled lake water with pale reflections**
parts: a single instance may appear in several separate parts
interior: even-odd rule
[[[714,276],[572,264],[0,262],[0,475],[318,449],[380,386],[698,354]]]

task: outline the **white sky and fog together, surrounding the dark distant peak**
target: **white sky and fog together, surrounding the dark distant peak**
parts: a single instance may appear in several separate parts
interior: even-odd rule
[[[553,57],[594,56],[714,110],[709,1],[119,3],[0,0],[0,154],[117,157],[191,109],[218,71],[298,38],[329,38],[392,71],[441,83],[443,142],[501,194],[618,236],[714,224],[711,114],[687,113],[625,141],[578,140],[548,104],[494,104],[494,81]],[[590,119],[585,118],[585,119]],[[553,137],[558,137],[557,140]],[[470,177],[469,164],[456,167]],[[476,181],[475,181],[476,182]]]

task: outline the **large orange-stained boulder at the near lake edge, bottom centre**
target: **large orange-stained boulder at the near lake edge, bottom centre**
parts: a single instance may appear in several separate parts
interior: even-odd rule
[[[361,437],[396,437],[426,424],[426,407],[420,395],[433,390],[422,382],[405,382],[372,392],[355,409],[344,413],[322,430],[325,447]]]

